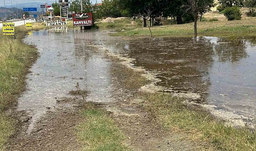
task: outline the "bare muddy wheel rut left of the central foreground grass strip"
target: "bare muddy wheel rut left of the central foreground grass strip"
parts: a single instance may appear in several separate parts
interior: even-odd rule
[[[6,150],[78,151],[80,146],[76,141],[74,126],[83,120],[78,110],[84,104],[84,100],[62,98],[56,101],[60,106],[48,108],[30,134],[26,132],[27,126],[23,126],[16,136],[10,139]],[[28,125],[28,123],[23,124]]]

